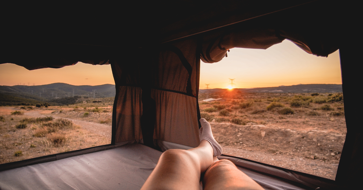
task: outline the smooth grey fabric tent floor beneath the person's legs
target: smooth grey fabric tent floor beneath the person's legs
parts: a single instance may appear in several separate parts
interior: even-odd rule
[[[0,189],[128,189],[139,190],[162,152],[142,144],[121,147],[0,172]],[[221,156],[221,158],[227,158]],[[230,157],[230,159],[233,159]],[[233,160],[231,160],[233,161]],[[238,164],[237,164],[238,166]],[[238,169],[267,189],[303,190],[301,184]]]

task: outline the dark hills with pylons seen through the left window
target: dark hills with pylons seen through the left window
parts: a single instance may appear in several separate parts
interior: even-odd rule
[[[53,83],[38,86],[0,86],[0,105],[16,105],[17,103],[50,105],[73,104],[77,101],[74,96],[96,98],[115,97],[115,85],[103,84],[97,86],[75,86],[65,83]]]

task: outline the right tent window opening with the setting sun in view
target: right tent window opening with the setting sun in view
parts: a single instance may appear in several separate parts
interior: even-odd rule
[[[339,51],[290,41],[201,62],[199,107],[225,155],[334,180],[346,135]]]

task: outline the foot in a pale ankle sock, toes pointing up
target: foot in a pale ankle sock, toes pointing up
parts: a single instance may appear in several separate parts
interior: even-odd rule
[[[201,118],[199,121],[202,125],[199,129],[200,141],[203,139],[207,140],[213,147],[214,156],[220,156],[222,154],[222,147],[213,137],[211,124],[209,124],[204,118]]]

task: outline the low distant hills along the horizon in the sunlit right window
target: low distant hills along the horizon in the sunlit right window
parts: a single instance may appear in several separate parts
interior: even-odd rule
[[[208,89],[209,93],[224,92],[227,89],[215,88]],[[278,86],[266,88],[237,88],[244,93],[334,93],[343,92],[341,84],[300,84],[292,86]],[[206,93],[207,90],[199,89],[199,93]]]

